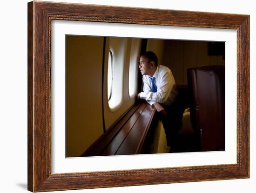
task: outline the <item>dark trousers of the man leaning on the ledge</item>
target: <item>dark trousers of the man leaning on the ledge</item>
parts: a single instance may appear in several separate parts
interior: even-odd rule
[[[185,107],[182,106],[179,98],[172,105],[163,107],[166,111],[166,116],[161,114],[160,119],[166,134],[167,146],[170,146],[173,151],[175,144],[177,144],[179,130],[182,128],[182,117]]]

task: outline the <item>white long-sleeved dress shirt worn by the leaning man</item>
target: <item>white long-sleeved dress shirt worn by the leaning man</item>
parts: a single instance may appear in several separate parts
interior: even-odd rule
[[[153,105],[155,102],[165,106],[171,105],[178,94],[171,70],[162,65],[157,66],[153,75],[157,87],[156,93],[153,93],[151,90],[151,80],[149,77],[148,75],[142,76],[143,92],[141,92],[140,98],[146,100],[150,105]]]

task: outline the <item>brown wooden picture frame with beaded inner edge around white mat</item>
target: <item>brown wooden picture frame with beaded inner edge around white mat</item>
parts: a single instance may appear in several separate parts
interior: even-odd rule
[[[51,21],[77,20],[237,30],[237,163],[51,173]],[[249,15],[28,3],[28,190],[32,192],[249,178]]]

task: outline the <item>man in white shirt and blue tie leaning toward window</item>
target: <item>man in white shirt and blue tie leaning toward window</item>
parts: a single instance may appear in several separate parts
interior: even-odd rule
[[[155,106],[156,111],[160,113],[167,145],[171,146],[173,152],[183,115],[182,110],[175,103],[178,91],[173,74],[168,67],[158,65],[157,56],[151,51],[141,54],[139,68],[142,74],[143,92],[138,94],[138,98]]]

